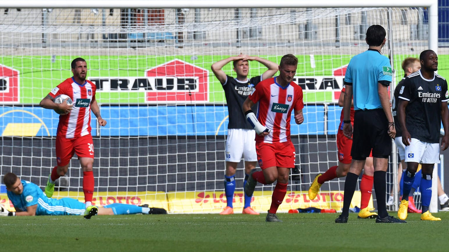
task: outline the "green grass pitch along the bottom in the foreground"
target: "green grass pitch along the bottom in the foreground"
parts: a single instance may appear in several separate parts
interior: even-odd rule
[[[394,212],[390,214],[396,214]],[[0,217],[1,251],[448,251],[449,212],[440,222],[409,214],[406,224],[378,224],[350,214],[167,214]]]

